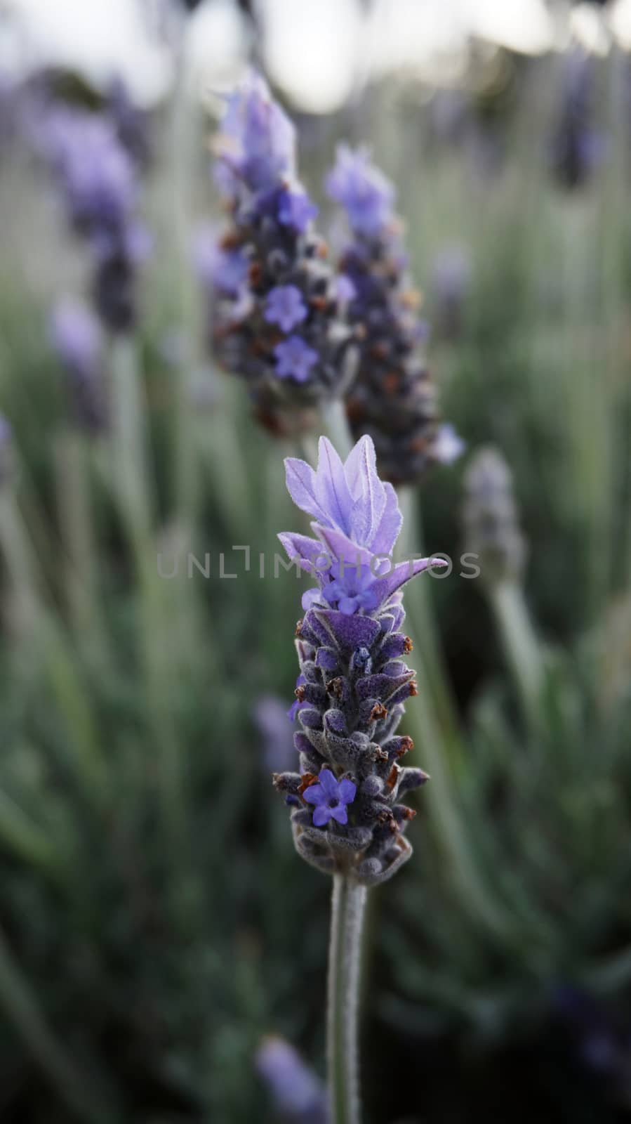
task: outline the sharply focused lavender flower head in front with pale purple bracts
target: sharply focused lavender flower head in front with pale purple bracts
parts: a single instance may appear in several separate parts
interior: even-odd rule
[[[319,870],[353,872],[371,886],[410,858],[403,833],[413,813],[399,797],[427,779],[397,764],[412,742],[396,728],[417,694],[402,660],[412,645],[400,632],[401,589],[431,560],[392,563],[402,517],[394,488],[377,475],[371,437],[345,462],[321,437],[316,470],[295,459],[285,469],[313,537],[278,538],[318,584],[303,596],[296,628],[301,772],[277,773],[274,783],[293,809],[299,853]]]

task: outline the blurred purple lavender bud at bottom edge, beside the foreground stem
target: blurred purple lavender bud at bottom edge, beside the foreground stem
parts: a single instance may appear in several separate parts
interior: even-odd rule
[[[289,1042],[272,1035],[264,1039],[256,1068],[289,1124],[327,1124],[324,1086]]]

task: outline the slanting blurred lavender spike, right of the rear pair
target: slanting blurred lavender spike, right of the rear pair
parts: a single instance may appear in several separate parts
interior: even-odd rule
[[[341,261],[348,316],[360,334],[357,380],[347,399],[354,437],[368,433],[379,470],[395,482],[418,480],[441,460],[437,392],[419,345],[424,325],[405,274],[393,185],[365,148],[338,149],[329,194],[347,211],[353,241]]]

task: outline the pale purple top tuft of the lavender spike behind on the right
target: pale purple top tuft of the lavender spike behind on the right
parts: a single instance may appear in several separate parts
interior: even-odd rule
[[[393,217],[393,184],[371,161],[367,148],[355,152],[340,145],[336,164],[327,179],[327,190],[346,208],[354,230],[376,235]]]

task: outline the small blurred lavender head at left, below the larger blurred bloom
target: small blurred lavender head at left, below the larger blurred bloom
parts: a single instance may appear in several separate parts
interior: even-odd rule
[[[51,339],[66,372],[75,424],[88,433],[101,433],[108,424],[108,405],[99,320],[88,305],[64,297],[51,317]]]

